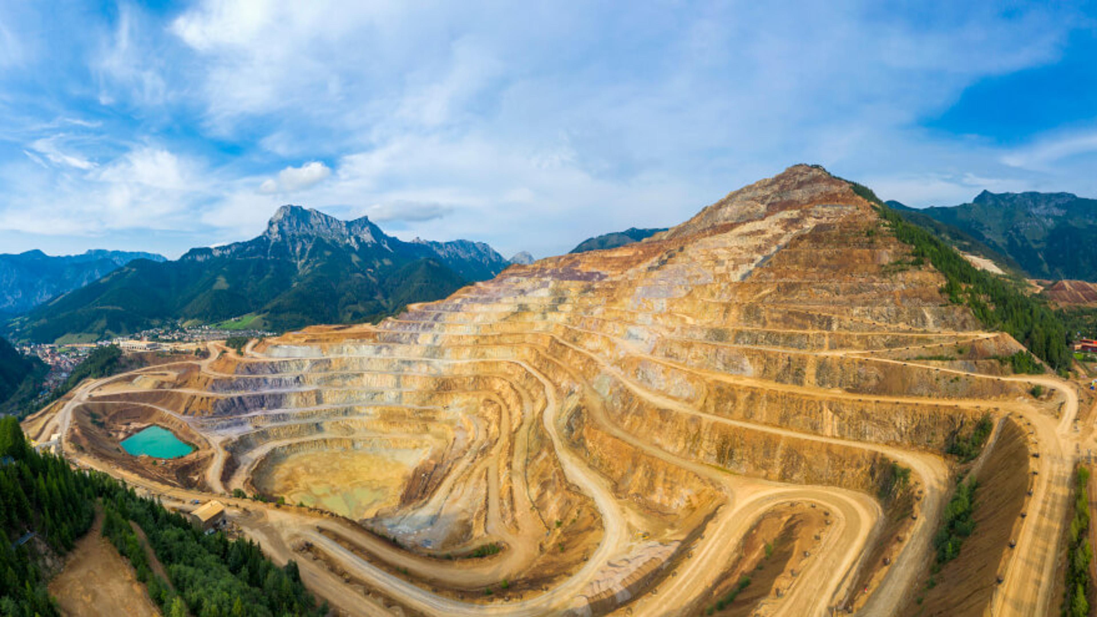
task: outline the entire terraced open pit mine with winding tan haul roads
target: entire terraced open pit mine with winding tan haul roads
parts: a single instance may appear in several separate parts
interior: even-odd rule
[[[1077,391],[1007,374],[1024,348],[909,255],[795,166],[644,242],[212,345],[26,426],[167,505],[220,501],[348,615],[1058,613]],[[149,425],[194,451],[120,447]],[[960,476],[975,531],[935,566]]]

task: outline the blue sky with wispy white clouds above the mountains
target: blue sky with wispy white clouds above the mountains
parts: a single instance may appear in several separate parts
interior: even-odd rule
[[[177,257],[297,203],[540,257],[801,161],[1097,197],[1097,8],[0,3],[0,253]]]

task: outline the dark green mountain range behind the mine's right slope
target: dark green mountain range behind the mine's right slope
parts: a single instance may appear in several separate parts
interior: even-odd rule
[[[971,203],[954,206],[889,204],[904,216],[914,213],[947,226],[937,231],[963,248],[964,238],[949,233],[959,231],[1029,278],[1097,282],[1097,200],[1072,193],[983,191]]]

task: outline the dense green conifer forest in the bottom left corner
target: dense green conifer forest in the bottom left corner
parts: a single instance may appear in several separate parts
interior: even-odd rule
[[[166,615],[282,617],[319,616],[296,563],[279,568],[250,540],[206,536],[180,514],[139,497],[113,478],[73,471],[60,458],[38,455],[12,417],[0,419],[0,614],[50,617],[57,609],[20,537],[36,532],[54,550],[71,550],[90,528],[97,500],[103,535],[133,564],[149,596]],[[132,524],[148,538],[170,580],[152,572]],[[174,591],[172,590],[174,587]]]

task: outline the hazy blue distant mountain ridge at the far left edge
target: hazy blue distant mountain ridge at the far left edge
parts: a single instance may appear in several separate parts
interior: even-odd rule
[[[18,314],[83,287],[134,259],[163,261],[162,255],[89,250],[50,256],[41,250],[0,255],[0,314]]]

